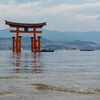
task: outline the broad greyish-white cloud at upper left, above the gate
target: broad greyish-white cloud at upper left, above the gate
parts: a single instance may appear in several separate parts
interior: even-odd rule
[[[40,2],[32,2],[32,3],[30,2],[18,5],[0,4],[0,14],[2,16],[11,16],[11,17],[13,17],[14,15],[16,16],[28,15],[30,14],[30,12],[36,12],[35,9],[38,8],[39,3]]]

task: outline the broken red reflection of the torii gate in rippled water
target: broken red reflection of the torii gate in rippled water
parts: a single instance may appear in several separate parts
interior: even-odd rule
[[[14,73],[41,73],[41,53],[13,53],[12,64]]]

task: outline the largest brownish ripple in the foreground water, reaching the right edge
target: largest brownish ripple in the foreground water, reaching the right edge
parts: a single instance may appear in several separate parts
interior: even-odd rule
[[[50,91],[60,91],[60,92],[69,92],[69,93],[77,93],[77,94],[96,94],[100,93],[100,89],[90,89],[90,88],[82,88],[82,87],[56,87],[47,84],[30,84],[30,86],[34,86],[37,90],[50,90]]]

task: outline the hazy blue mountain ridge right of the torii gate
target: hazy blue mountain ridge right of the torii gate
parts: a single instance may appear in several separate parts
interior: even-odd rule
[[[81,40],[81,41],[92,41],[100,43],[100,32],[90,31],[90,32],[59,32],[59,31],[49,31],[44,30],[42,36],[49,40]]]

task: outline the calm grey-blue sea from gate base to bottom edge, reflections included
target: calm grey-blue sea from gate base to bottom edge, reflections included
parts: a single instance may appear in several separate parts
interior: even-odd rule
[[[0,100],[100,100],[100,51],[0,51]]]

